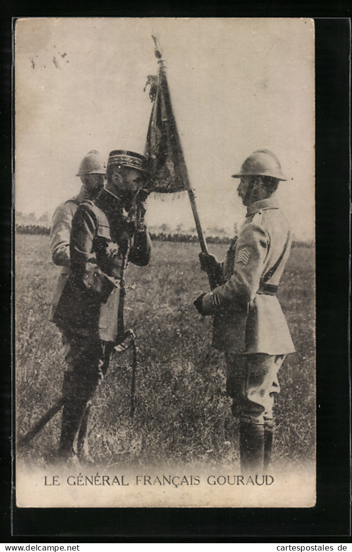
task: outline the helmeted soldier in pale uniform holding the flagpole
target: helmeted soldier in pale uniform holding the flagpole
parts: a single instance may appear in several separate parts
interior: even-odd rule
[[[252,153],[241,170],[237,193],[247,207],[238,236],[219,262],[200,253],[201,269],[216,274],[218,285],[194,304],[214,315],[213,346],[225,352],[226,392],[239,419],[243,473],[268,468],[273,443],[273,403],[280,392],[278,371],[295,351],[276,293],[290,255],[291,234],[275,192],[286,178],[268,150]]]

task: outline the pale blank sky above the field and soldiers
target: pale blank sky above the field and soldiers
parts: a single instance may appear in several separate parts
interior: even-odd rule
[[[175,119],[205,235],[243,221],[250,153],[278,156],[277,192],[297,240],[314,238],[314,26],[295,18],[26,18],[15,28],[15,208],[50,216],[78,193],[90,150],[143,153],[166,60]],[[148,198],[147,222],[195,226],[188,195]]]

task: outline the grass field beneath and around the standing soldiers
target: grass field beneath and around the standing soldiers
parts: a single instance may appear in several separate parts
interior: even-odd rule
[[[210,246],[219,258],[227,246]],[[48,319],[60,268],[47,236],[15,238],[15,368],[17,430],[23,434],[61,394],[65,368],[61,337]],[[199,268],[199,246],[153,242],[147,267],[130,266],[125,323],[138,346],[136,412],[129,417],[130,352],[117,354],[94,397],[91,454],[105,466],[237,464],[237,422],[225,395],[222,354],[210,347],[211,317],[193,300],[209,288]],[[275,405],[274,463],[312,462],[315,447],[314,250],[292,248],[279,300],[296,353],[286,358]],[[57,445],[60,415],[19,453],[44,466]]]

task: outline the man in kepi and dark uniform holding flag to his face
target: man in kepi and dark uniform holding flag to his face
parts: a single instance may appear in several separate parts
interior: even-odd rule
[[[62,460],[89,461],[90,400],[109,366],[119,331],[119,295],[130,262],[150,261],[144,224],[145,158],[116,150],[109,155],[107,182],[98,197],[76,208],[70,237],[70,270],[52,321],[62,333],[67,369],[60,447]]]

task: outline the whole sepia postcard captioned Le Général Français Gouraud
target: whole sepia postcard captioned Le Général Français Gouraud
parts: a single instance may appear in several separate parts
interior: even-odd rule
[[[18,507],[316,504],[314,21],[14,25]]]

